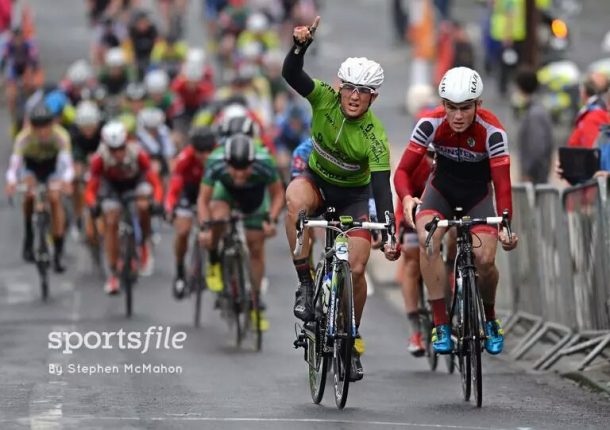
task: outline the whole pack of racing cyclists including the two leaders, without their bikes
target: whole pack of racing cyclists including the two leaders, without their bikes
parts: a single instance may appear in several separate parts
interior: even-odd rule
[[[184,260],[194,226],[208,250],[207,288],[222,292],[222,226],[210,221],[226,219],[233,210],[246,216],[256,289],[265,276],[265,240],[276,235],[284,209],[290,249],[295,248],[296,222],[303,210],[316,216],[332,206],[337,214],[356,220],[367,220],[372,213],[380,219],[394,214],[390,146],[382,121],[370,109],[381,92],[383,68],[364,57],[349,57],[339,67],[338,82],[312,79],[303,69],[304,57],[320,18],[310,26],[298,25],[311,16],[313,6],[302,4],[310,2],[260,2],[277,4],[277,12],[256,9],[259,2],[207,1],[206,15],[212,17],[207,31],[213,36],[205,50],[185,45],[171,20],[160,36],[150,13],[134,8],[138,2],[93,3],[99,7],[90,15],[96,29],[90,60],[72,64],[57,85],[29,90],[22,118],[15,109],[13,120],[20,131],[6,191],[13,194],[20,182],[29,190],[23,207],[26,261],[33,259],[32,189],[38,182],[50,190],[55,271],[65,270],[64,237],[72,223],[90,246],[103,242],[109,294],[120,290],[118,226],[125,193],[137,196],[142,275],[154,271],[151,217],[163,216],[174,227],[172,291],[177,299],[186,292]],[[274,22],[276,32],[271,30]],[[286,54],[281,35],[287,26],[294,28]],[[159,54],[160,46],[169,52],[167,57]],[[214,55],[221,65],[216,76]],[[25,69],[38,68],[35,60]],[[440,106],[420,115],[393,177],[398,222],[407,227],[403,277],[416,285],[420,272],[423,276],[438,353],[453,347],[445,303],[447,270],[440,256],[445,230],[434,234],[429,253],[424,226],[435,216],[453,217],[456,207],[473,217],[512,211],[508,138],[497,118],[481,107],[482,94],[476,71],[449,70],[439,85]],[[71,196],[70,211],[65,195]],[[517,238],[509,240],[490,227],[475,233],[481,242],[475,254],[487,320],[485,347],[497,354],[503,336],[494,311],[495,251],[498,241],[509,250]],[[298,277],[294,315],[305,322],[313,318],[310,244],[305,237],[293,260]],[[372,247],[390,261],[401,256],[401,247],[391,246],[385,232],[376,240],[365,230],[350,234],[356,327],[366,302],[365,270]],[[406,288],[409,297],[415,289]],[[414,328],[409,349],[420,355],[416,309],[407,308]],[[267,329],[264,315],[261,320]],[[364,349],[357,334],[353,380],[363,377]]]

